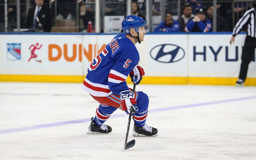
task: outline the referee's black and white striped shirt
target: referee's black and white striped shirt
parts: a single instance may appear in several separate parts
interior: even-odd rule
[[[235,28],[233,29],[233,36],[236,36],[240,30],[243,28],[245,24],[248,25],[247,29],[247,35],[256,38],[256,11],[255,8],[252,8],[250,10],[247,10],[243,17],[239,19],[239,21],[236,23]]]

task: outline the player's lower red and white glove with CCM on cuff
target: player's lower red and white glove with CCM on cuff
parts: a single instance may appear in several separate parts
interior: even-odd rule
[[[131,112],[131,108],[133,108],[135,111],[138,111],[137,102],[135,101],[134,93],[132,91],[122,91],[120,93],[120,99],[120,106],[122,111],[125,111],[127,114]]]

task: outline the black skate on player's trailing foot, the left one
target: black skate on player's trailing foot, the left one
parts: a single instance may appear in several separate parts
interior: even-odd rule
[[[112,131],[112,128],[108,125],[102,124],[101,126],[96,125],[91,118],[91,125],[88,127],[87,134],[108,134]]]

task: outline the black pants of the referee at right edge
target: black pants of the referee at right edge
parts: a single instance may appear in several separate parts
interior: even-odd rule
[[[247,35],[244,41],[239,79],[242,79],[245,81],[247,76],[247,71],[248,71],[248,65],[252,61],[252,56],[255,48],[256,48],[256,38],[253,38]]]

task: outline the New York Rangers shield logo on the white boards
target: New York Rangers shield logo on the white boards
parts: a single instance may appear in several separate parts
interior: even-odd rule
[[[20,60],[20,46],[21,43],[7,43],[7,59]]]

